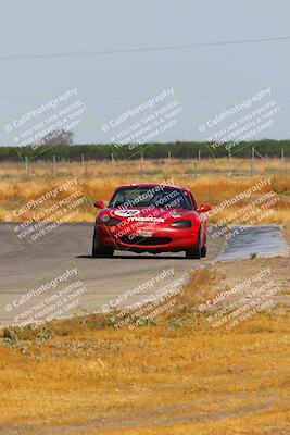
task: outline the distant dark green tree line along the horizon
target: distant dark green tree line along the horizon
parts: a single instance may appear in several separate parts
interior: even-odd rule
[[[235,147],[227,144],[219,145],[214,148],[207,142],[190,142],[176,141],[167,144],[142,144],[115,147],[110,144],[87,144],[87,145],[68,145],[67,142],[59,142],[56,145],[41,146],[34,150],[31,147],[0,147],[0,161],[16,161],[20,158],[35,160],[50,160],[55,156],[58,160],[79,161],[81,154],[86,160],[105,160],[111,159],[112,154],[115,159],[140,159],[143,154],[144,159],[165,159],[171,156],[178,159],[196,159],[201,158],[218,158],[231,157],[247,158],[251,156],[252,147],[255,152],[262,157],[280,157],[283,152],[285,157],[290,157],[290,140],[272,140],[263,139],[252,142],[240,142]],[[283,151],[281,151],[283,150]]]

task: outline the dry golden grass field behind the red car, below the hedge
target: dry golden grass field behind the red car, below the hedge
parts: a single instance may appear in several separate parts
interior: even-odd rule
[[[199,203],[210,202],[213,206],[225,199],[249,189],[261,178],[270,176],[270,185],[261,190],[261,194],[274,189],[280,197],[280,201],[274,206],[274,213],[266,216],[262,223],[289,223],[290,222],[290,175],[289,162],[286,162],[286,171],[279,172],[279,159],[257,161],[254,177],[249,175],[250,161],[232,159],[231,167],[243,169],[243,175],[229,176],[226,159],[204,160],[198,166],[198,177],[193,176],[194,161],[172,160],[144,161],[143,175],[140,172],[140,162],[119,161],[115,163],[114,174],[111,173],[110,162],[88,162],[87,173],[80,163],[59,162],[56,176],[53,177],[52,164],[48,162],[35,162],[30,165],[28,179],[25,176],[21,163],[1,163],[0,166],[0,221],[5,221],[8,212],[30,199],[37,199],[45,192],[52,190],[65,179],[76,177],[78,181],[75,189],[80,189],[88,202],[78,209],[76,221],[92,222],[96,209],[92,203],[96,199],[109,200],[114,189],[128,183],[152,182],[162,183],[173,178],[174,184],[190,188]],[[237,170],[236,170],[237,172]],[[225,211],[230,215],[241,206],[245,206],[256,198],[257,194],[249,200],[243,200]],[[53,201],[47,201],[46,207],[51,207]],[[31,213],[22,215],[22,220],[31,217]],[[220,216],[216,216],[219,220]]]

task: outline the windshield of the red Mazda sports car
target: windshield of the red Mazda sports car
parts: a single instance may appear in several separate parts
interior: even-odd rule
[[[157,186],[122,187],[111,199],[109,207],[162,207],[165,209],[192,210],[191,201],[181,189]]]

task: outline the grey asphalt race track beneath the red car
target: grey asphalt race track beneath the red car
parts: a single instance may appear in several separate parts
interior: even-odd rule
[[[113,259],[96,259],[91,257],[91,223],[62,224],[50,233],[49,238],[39,238],[28,249],[15,237],[15,225],[0,224],[0,325],[25,321],[31,315],[28,309],[34,312],[43,309],[45,299],[47,306],[51,306],[53,299],[48,301],[48,298],[55,293],[62,294],[63,298],[64,289],[76,281],[81,282],[83,291],[77,296],[78,304],[72,306],[65,315],[106,312],[112,307],[136,303],[166,285],[180,287],[197,268],[213,263],[216,259],[241,258],[237,250],[244,252],[249,239],[254,240],[252,252],[264,256],[267,256],[265,246],[270,236],[276,243],[268,244],[269,256],[281,254],[286,248],[281,228],[267,225],[263,226],[263,231],[261,227],[251,228],[248,236],[243,233],[234,237],[225,250],[225,237],[214,237],[210,231],[207,257],[201,260],[187,260],[184,252],[153,256],[119,251],[115,252]],[[247,251],[248,257],[251,249]],[[59,281],[55,287],[51,286],[55,277],[67,276],[70,271],[74,271],[73,276],[64,282]],[[41,294],[29,293],[39,288]],[[126,295],[128,290],[131,291],[129,296]]]

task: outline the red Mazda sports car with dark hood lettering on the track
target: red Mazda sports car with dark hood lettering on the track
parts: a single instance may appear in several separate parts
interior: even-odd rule
[[[185,251],[190,259],[206,256],[205,212],[197,207],[190,190],[162,184],[118,187],[96,219],[93,257],[112,257],[114,250],[134,252]]]

